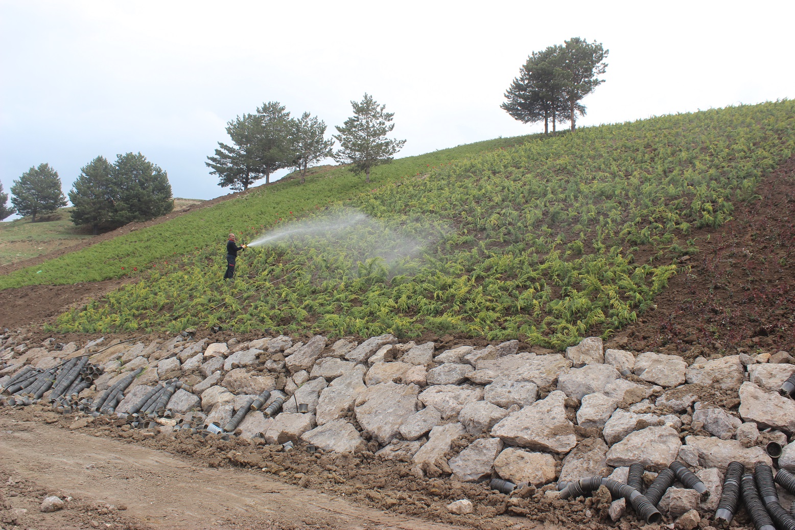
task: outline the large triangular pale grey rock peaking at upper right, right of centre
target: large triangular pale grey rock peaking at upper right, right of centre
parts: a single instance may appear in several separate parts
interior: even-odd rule
[[[577,445],[574,426],[566,418],[563,392],[550,392],[545,399],[512,412],[491,428],[491,435],[510,445],[568,453]]]

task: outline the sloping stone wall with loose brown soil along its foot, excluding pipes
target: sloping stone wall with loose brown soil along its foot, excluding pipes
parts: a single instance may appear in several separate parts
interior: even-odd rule
[[[688,364],[678,356],[620,349],[622,337],[607,345],[590,337],[565,354],[520,351],[517,341],[437,347],[390,335],[361,344],[322,336],[305,343],[282,336],[113,342],[33,344],[4,336],[3,386],[25,364],[51,368],[88,355],[103,368],[80,393],[91,399],[142,369],[113,415],[56,415],[47,394],[27,407],[10,407],[4,396],[6,415],[474,528],[638,527],[622,501],[563,501],[556,484],[595,474],[625,481],[627,466],[642,462],[648,485],[675,460],[696,472],[711,495],[702,499],[681,485],[669,489],[660,503],[664,523],[707,528],[732,460],[749,471],[756,462],[795,470],[795,443],[788,445],[795,401],[777,392],[795,366],[775,345]],[[172,418],[136,429],[118,417],[173,378],[184,387],[169,399]],[[225,426],[263,391],[270,392],[268,403],[285,399],[283,411],[273,418],[262,409],[248,411],[227,440],[177,428],[180,420]],[[299,403],[307,413],[297,411]],[[284,450],[286,442],[293,450]],[[770,442],[783,446],[777,462],[766,454]],[[518,488],[510,495],[492,491],[492,477]],[[52,492],[34,489],[33,497],[46,493]],[[787,508],[790,497],[781,492],[781,498]],[[735,520],[748,524],[744,514]],[[132,523],[138,524],[113,524]]]

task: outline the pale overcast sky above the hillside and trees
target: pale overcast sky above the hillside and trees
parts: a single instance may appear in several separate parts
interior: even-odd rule
[[[331,135],[368,92],[403,156],[537,132],[503,93],[529,53],[570,37],[610,49],[583,125],[792,99],[793,6],[0,0],[0,181],[48,162],[68,193],[92,158],[141,151],[175,197],[217,197],[207,155],[271,100]]]

